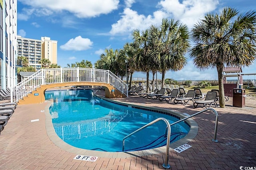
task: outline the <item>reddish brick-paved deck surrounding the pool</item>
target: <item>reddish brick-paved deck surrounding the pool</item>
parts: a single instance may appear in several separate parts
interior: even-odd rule
[[[194,108],[192,103],[183,106],[150,100],[138,96],[115,99],[141,106],[171,109],[178,113],[193,114],[204,108]],[[1,101],[8,102],[8,101]],[[99,156],[96,162],[74,160],[76,153],[57,147],[46,131],[46,106],[44,104],[18,105],[0,135],[0,170],[158,170],[165,153],[148,156],[107,158]],[[194,117],[198,133],[187,144],[192,147],[181,153],[169,152],[169,164],[176,169],[234,169],[256,166],[256,101],[246,100],[245,107],[232,107],[232,98],[225,108],[212,107],[219,115],[218,143],[214,137],[215,114],[207,111]],[[31,122],[31,120],[39,121]],[[93,142],[93,141],[92,141]],[[85,154],[91,155],[90,152]]]

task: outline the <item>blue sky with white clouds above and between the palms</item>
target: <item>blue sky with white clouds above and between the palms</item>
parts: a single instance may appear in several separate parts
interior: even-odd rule
[[[18,0],[17,34],[31,39],[50,37],[58,41],[58,65],[100,59],[105,49],[122,49],[132,43],[134,29],[160,25],[162,18],[180,20],[193,27],[209,12],[224,7],[244,13],[256,10],[256,0]],[[174,80],[217,80],[216,69],[196,68],[188,54],[180,71],[168,71],[165,78]],[[242,73],[256,73],[256,61],[242,67]],[[133,77],[144,77],[141,72]],[[158,74],[158,79],[161,74]],[[150,74],[152,79],[152,74]],[[256,79],[246,76],[244,79]]]

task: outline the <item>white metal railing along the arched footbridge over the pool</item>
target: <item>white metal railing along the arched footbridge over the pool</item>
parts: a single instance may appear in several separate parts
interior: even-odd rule
[[[11,87],[11,102],[18,102],[24,96],[43,84],[63,82],[102,82],[114,86],[128,96],[128,86],[109,70],[95,68],[47,68],[41,69],[16,86]]]

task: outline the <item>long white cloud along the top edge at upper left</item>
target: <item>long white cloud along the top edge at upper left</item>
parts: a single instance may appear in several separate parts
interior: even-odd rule
[[[118,8],[119,0],[20,0],[32,8],[49,12],[68,11],[78,18],[96,17],[108,14]]]

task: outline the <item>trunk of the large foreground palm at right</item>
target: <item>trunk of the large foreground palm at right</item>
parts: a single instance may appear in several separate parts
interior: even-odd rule
[[[224,85],[223,85],[223,76],[222,76],[223,67],[217,65],[217,72],[218,72],[218,81],[219,81],[219,102],[220,107],[225,107],[225,93],[224,93]]]

